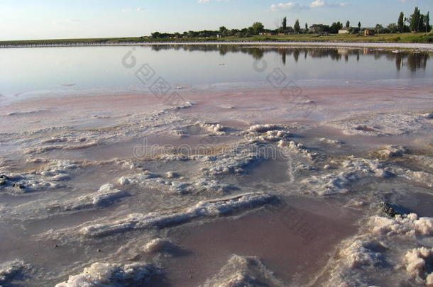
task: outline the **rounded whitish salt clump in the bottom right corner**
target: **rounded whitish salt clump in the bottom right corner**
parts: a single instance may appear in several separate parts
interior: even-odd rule
[[[406,271],[416,281],[433,286],[433,248],[414,248],[405,254]]]

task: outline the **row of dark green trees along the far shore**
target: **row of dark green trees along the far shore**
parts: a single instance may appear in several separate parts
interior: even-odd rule
[[[219,30],[200,30],[200,31],[185,31],[183,33],[160,33],[154,32],[151,34],[152,38],[210,38],[210,37],[233,37],[246,38],[253,35],[278,35],[278,34],[301,34],[301,33],[331,33],[337,34],[342,28],[346,28],[349,33],[358,34],[361,32],[361,21],[355,27],[351,26],[350,21],[346,21],[346,25],[343,26],[341,22],[334,22],[329,25],[314,25],[309,27],[305,23],[304,28],[302,28],[299,19],[296,19],[293,27],[287,26],[287,17],[284,17],[281,21],[278,21],[278,28],[276,29],[265,29],[262,23],[253,23],[248,28],[243,29],[227,29],[221,26]],[[388,26],[384,27],[382,24],[377,24],[374,28],[375,32],[378,34],[384,33],[428,33],[432,30],[430,26],[430,16],[429,12],[427,14],[422,14],[418,7],[415,7],[414,13],[409,17],[405,17],[403,12],[400,13],[397,23],[390,23]]]

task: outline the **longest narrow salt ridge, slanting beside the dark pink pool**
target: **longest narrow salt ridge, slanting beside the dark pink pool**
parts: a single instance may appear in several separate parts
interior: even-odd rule
[[[143,230],[151,227],[163,228],[168,225],[180,225],[197,218],[212,218],[219,215],[226,215],[231,211],[257,208],[270,204],[275,196],[268,193],[245,193],[230,198],[221,198],[214,201],[200,201],[197,205],[187,208],[180,213],[161,214],[133,213],[126,218],[117,220],[114,223],[102,223],[89,225],[80,229],[80,234],[85,237],[100,237],[114,235],[131,230]]]

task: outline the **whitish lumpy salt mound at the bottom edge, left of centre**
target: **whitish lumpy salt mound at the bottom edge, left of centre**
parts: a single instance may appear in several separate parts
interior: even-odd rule
[[[67,281],[55,287],[111,287],[137,286],[146,283],[160,273],[159,269],[146,262],[131,264],[94,263],[84,268],[81,274],[69,276]]]

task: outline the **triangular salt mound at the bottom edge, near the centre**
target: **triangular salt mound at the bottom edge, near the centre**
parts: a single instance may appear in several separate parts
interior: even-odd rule
[[[218,274],[199,287],[287,286],[257,257],[232,255]]]

